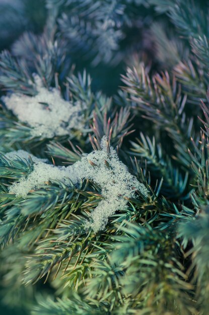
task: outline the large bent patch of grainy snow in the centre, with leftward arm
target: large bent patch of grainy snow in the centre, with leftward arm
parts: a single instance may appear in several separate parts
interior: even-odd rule
[[[148,196],[145,185],[128,172],[113,147],[110,147],[110,153],[107,152],[105,137],[101,141],[101,148],[83,155],[81,161],[68,167],[37,162],[34,171],[27,178],[14,183],[10,192],[25,197],[31,189],[39,188],[50,180],[69,185],[70,182],[76,184],[81,179],[89,179],[101,188],[103,198],[91,213],[92,222],[87,222],[87,227],[97,232],[105,227],[111,215],[127,207],[126,198],[133,198],[136,190]]]

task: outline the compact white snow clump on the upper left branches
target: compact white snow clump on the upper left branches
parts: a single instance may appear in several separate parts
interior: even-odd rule
[[[37,95],[27,96],[13,93],[3,97],[10,109],[20,121],[32,127],[31,135],[52,138],[71,133],[72,129],[82,129],[82,106],[61,98],[59,90],[48,91],[42,86],[40,77],[34,75]]]

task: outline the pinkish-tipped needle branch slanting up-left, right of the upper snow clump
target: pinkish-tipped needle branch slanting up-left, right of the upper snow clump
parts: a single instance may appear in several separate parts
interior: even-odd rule
[[[176,158],[189,167],[187,148],[190,137],[196,138],[196,135],[193,131],[193,117],[186,118],[184,112],[186,95],[181,95],[175,77],[172,80],[167,72],[151,78],[143,66],[138,72],[136,69],[128,69],[127,76],[123,76],[123,82],[128,86],[127,91],[136,102],[134,108],[145,113],[144,118],[153,121],[169,134],[177,151]]]

